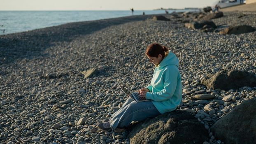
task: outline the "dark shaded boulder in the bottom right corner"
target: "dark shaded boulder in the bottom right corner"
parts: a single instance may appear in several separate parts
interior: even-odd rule
[[[242,102],[214,123],[211,130],[225,144],[255,144],[256,98]]]

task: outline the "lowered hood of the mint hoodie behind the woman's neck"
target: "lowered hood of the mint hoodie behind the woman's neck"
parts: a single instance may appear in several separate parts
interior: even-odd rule
[[[159,65],[157,65],[156,68],[161,70],[166,65],[176,65],[177,67],[179,67],[179,60],[178,60],[177,56],[175,56],[175,54],[172,53],[171,50],[168,51],[167,56],[165,56],[165,58],[163,58],[161,63]]]

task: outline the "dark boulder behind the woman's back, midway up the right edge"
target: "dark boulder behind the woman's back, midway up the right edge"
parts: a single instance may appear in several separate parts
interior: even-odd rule
[[[202,84],[207,88],[213,88],[228,91],[238,89],[244,86],[256,86],[256,77],[254,74],[246,71],[230,70],[221,71],[216,74],[209,74],[202,79]]]

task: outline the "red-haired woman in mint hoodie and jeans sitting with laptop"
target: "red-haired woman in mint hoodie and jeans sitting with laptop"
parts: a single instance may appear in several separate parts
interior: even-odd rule
[[[170,50],[160,44],[150,44],[145,52],[149,62],[155,65],[149,86],[139,90],[140,97],[147,100],[135,102],[128,98],[123,106],[112,114],[109,121],[98,123],[100,130],[127,127],[132,121],[143,121],[176,109],[182,99],[182,82],[179,60]]]

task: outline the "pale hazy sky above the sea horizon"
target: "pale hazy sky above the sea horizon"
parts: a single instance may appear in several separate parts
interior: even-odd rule
[[[218,0],[0,0],[0,10],[152,10],[206,7]]]

